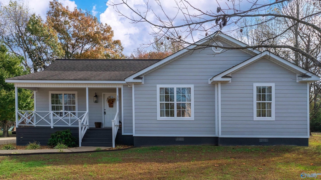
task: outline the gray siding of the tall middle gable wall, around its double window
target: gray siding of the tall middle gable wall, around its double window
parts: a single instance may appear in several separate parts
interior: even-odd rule
[[[146,74],[144,84],[134,85],[135,136],[215,135],[215,88],[208,79],[251,57],[241,50],[214,55],[211,48],[206,48]],[[157,120],[156,86],[161,84],[194,85],[195,120]]]

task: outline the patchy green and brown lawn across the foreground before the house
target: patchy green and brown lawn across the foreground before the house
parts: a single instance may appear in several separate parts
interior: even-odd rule
[[[0,179],[302,179],[301,173],[321,173],[321,135],[309,141],[309,147],[154,146],[0,156]]]

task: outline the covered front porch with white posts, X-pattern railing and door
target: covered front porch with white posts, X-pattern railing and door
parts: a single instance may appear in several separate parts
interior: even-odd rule
[[[95,122],[100,122],[101,128],[111,130],[112,147],[115,147],[121,123],[122,87],[122,84],[15,83],[17,132],[25,127],[44,131],[48,128],[52,131],[70,128],[74,132],[78,130],[75,134],[78,135],[79,146],[82,146],[88,129],[95,128]],[[34,110],[19,110],[18,88],[34,92]],[[31,128],[28,129],[30,131]]]

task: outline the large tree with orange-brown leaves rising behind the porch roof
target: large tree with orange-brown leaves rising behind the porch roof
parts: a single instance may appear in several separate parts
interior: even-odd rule
[[[49,4],[47,23],[56,30],[67,59],[120,59],[124,56],[120,40],[112,39],[111,27],[100,23],[87,11],[77,8],[71,11],[54,0]]]

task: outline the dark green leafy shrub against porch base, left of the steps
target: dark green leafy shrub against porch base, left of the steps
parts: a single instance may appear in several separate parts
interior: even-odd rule
[[[72,135],[70,129],[64,131],[56,131],[50,135],[48,146],[56,146],[58,143],[67,145],[68,147],[75,147],[76,138]]]

